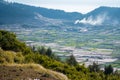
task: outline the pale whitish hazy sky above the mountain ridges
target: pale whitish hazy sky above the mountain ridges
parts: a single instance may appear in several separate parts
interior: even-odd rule
[[[99,6],[120,7],[120,0],[6,0],[34,6],[87,13]]]

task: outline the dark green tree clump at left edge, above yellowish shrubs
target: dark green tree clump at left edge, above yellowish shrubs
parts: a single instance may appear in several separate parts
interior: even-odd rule
[[[14,33],[4,30],[0,30],[0,47],[3,50],[23,52],[24,54],[31,53],[29,47],[17,40]]]

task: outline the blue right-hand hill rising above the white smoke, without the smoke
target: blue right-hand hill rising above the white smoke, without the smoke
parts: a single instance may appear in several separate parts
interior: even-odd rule
[[[105,7],[105,6],[102,6],[102,7],[99,7],[99,8],[96,8],[95,10],[87,13],[85,15],[86,18],[92,16],[93,18],[96,18],[96,17],[101,17],[101,18],[105,18],[104,22],[107,22],[110,23],[110,22],[115,22],[115,21],[120,21],[120,8],[118,7]]]

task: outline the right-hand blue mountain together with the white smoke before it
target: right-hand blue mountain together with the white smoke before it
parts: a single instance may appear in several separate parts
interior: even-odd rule
[[[120,8],[116,7],[99,7],[84,15],[82,20],[77,20],[78,23],[101,25],[101,24],[120,24]],[[76,22],[76,23],[77,23]]]

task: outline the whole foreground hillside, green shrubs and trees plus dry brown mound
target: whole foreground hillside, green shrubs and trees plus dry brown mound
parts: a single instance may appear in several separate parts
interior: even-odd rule
[[[3,45],[5,44],[5,45]],[[111,66],[106,66],[106,71],[99,69],[99,65],[93,65],[85,68],[84,65],[73,65],[74,58],[68,59],[71,63],[62,63],[47,54],[34,51],[24,43],[16,39],[14,33],[0,30],[0,77],[4,80],[21,80],[27,77],[38,78],[42,80],[119,80],[120,74],[113,72]],[[30,65],[32,63],[32,65]],[[34,63],[34,64],[33,64]],[[41,66],[50,69],[40,68]],[[27,68],[27,69],[26,69]],[[40,71],[39,71],[40,70]],[[53,71],[51,71],[53,70]],[[23,74],[20,74],[20,71]],[[27,73],[26,73],[27,71]],[[60,73],[54,73],[54,71]],[[32,74],[31,74],[32,72]],[[62,73],[62,75],[61,75]],[[64,74],[64,75],[63,75]],[[66,76],[67,77],[66,77]],[[17,76],[17,77],[16,77]],[[41,77],[40,77],[41,76]],[[64,78],[60,78],[64,76]]]

